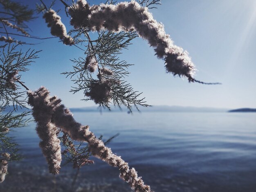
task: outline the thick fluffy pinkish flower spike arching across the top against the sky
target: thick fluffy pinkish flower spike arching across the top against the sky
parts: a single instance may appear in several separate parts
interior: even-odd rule
[[[158,23],[148,11],[136,1],[89,6],[85,0],[78,0],[69,7],[74,28],[85,27],[92,31],[109,30],[112,32],[136,30],[141,38],[155,47],[158,58],[165,60],[166,71],[173,75],[186,76],[193,81],[194,64],[189,54],[174,45],[165,33],[164,25]]]

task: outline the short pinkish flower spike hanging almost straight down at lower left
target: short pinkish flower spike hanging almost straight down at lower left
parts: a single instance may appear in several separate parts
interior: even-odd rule
[[[33,106],[33,116],[37,122],[36,132],[39,146],[47,160],[49,172],[58,174],[61,168],[61,141],[57,137],[57,128],[52,123],[54,107],[61,102],[57,97],[49,96],[49,91],[41,87],[35,92],[28,91],[28,104]]]

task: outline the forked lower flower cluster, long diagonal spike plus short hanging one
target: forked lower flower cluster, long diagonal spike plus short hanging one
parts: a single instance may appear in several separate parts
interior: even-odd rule
[[[49,125],[52,125],[52,127],[59,127],[64,132],[70,134],[73,140],[88,142],[92,155],[111,166],[118,167],[121,172],[120,178],[128,182],[135,192],[152,192],[150,186],[145,185],[142,179],[137,176],[137,172],[134,168],[130,169],[128,163],[121,159],[120,156],[113,154],[110,148],[106,147],[101,140],[97,139],[96,136],[89,131],[88,125],[85,126],[76,122],[70,110],[64,105],[61,105],[61,100],[56,96],[50,97],[49,91],[45,87],[41,87],[35,92],[29,91],[28,96],[28,103],[33,107],[33,116],[37,122],[37,127],[40,127],[40,133],[38,134],[45,143],[48,142],[47,145],[41,145],[43,152],[46,152],[45,155],[48,158],[53,157],[52,160],[55,159],[58,161],[58,163],[56,163],[56,161],[51,160],[48,161],[48,163],[56,163],[56,165],[59,165],[61,161],[60,158],[56,159],[56,156],[59,157],[59,155],[55,154],[59,154],[60,151],[56,150],[59,147],[59,141],[54,138],[56,136],[55,129],[49,129]],[[49,137],[53,137],[54,139]],[[54,146],[57,147],[55,148]],[[52,151],[50,151],[50,149],[52,149]]]

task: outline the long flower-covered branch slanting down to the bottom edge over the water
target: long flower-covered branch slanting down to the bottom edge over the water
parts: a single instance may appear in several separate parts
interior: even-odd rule
[[[118,167],[120,178],[126,181],[135,192],[153,192],[150,190],[150,186],[145,185],[144,181],[138,177],[136,170],[130,168],[128,163],[106,147],[104,142],[89,130],[88,125],[81,125],[75,121],[70,110],[62,105],[61,100],[56,96],[51,97],[48,89],[41,87],[38,91],[28,93],[28,97],[28,104],[33,107],[33,116],[38,125],[50,121],[63,132],[70,134],[73,140],[87,142],[91,154],[112,167]],[[48,111],[47,114],[42,112],[42,105],[44,106],[43,110]],[[51,114],[50,118],[49,114]]]

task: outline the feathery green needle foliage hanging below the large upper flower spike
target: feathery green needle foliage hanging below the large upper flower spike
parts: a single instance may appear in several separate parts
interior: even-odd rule
[[[90,92],[92,83],[100,83],[103,80],[109,80],[108,89],[110,90],[110,100],[102,100],[95,102],[99,106],[110,109],[110,103],[121,107],[124,105],[131,111],[132,105],[148,106],[144,98],[139,98],[140,92],[134,91],[130,83],[127,83],[124,78],[128,76],[128,67],[132,64],[125,60],[120,60],[119,54],[122,49],[127,49],[131,44],[132,39],[137,37],[134,31],[111,33],[109,31],[98,32],[96,40],[91,40],[88,29],[79,28],[73,29],[71,34],[74,34],[76,43],[85,45],[85,57],[73,59],[75,64],[73,71],[63,74],[70,77],[76,86],[72,87],[71,92],[76,93],[83,91],[85,97]],[[85,36],[85,39],[81,37]],[[98,70],[97,74],[91,73],[86,67],[86,56],[95,56],[97,58]],[[103,74],[101,69],[110,69],[112,74]],[[93,98],[85,98],[83,100],[94,100]],[[94,100],[96,101],[96,100]]]

